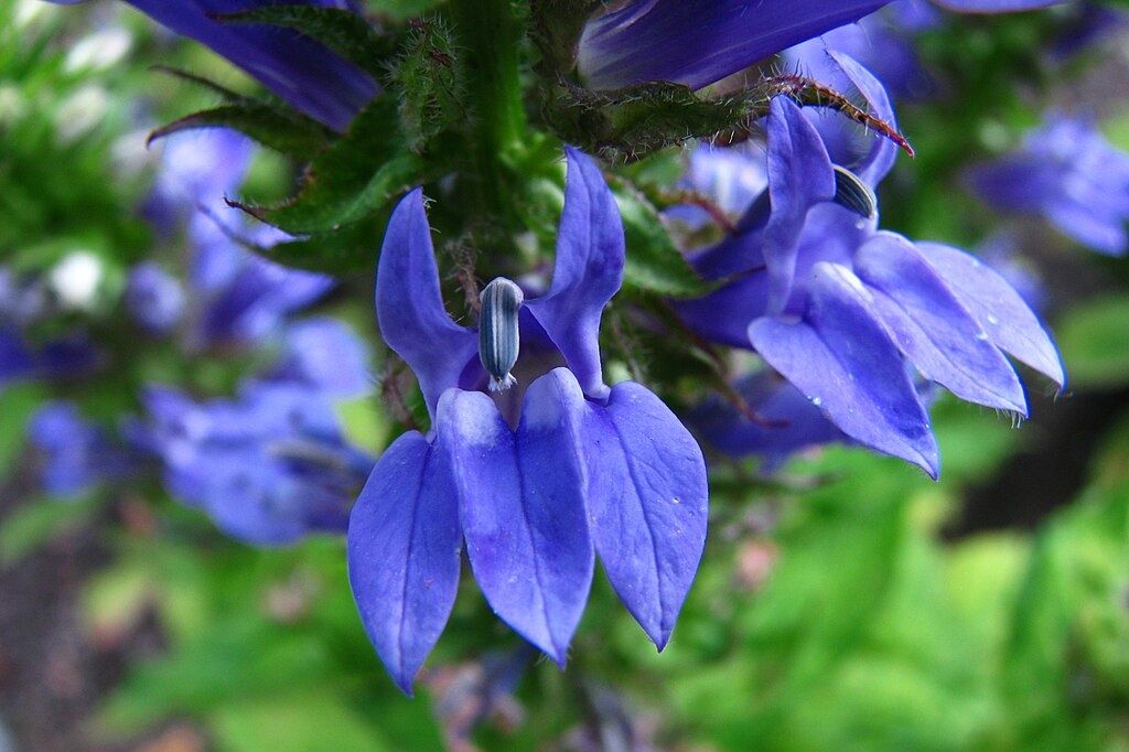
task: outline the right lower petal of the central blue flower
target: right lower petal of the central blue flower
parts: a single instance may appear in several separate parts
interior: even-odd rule
[[[596,550],[620,600],[662,650],[706,545],[706,461],[674,413],[630,382],[590,409],[585,448]]]

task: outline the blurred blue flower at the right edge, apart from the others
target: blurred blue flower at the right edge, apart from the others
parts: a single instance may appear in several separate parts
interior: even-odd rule
[[[1129,250],[1129,154],[1089,120],[1052,115],[1016,151],[969,178],[994,207],[1039,215],[1099,253]]]

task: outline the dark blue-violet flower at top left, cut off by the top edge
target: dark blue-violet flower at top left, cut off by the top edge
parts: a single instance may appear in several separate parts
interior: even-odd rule
[[[51,0],[75,5],[81,0]],[[224,24],[215,15],[282,5],[272,0],[128,0],[177,34],[208,45],[274,94],[330,128],[344,130],[379,87],[365,71],[289,29]],[[294,0],[292,5],[353,10],[348,0]]]

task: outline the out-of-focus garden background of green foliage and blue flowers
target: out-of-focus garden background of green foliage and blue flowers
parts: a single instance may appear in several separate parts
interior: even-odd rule
[[[396,24],[436,3],[368,5]],[[875,67],[900,55],[884,79],[918,151],[884,225],[1005,269],[1057,335],[1064,394],[1029,374],[1022,425],[940,396],[939,482],[857,448],[771,473],[715,457],[662,655],[597,575],[561,673],[464,578],[408,699],[340,535],[419,408],[370,274],[247,250],[289,238],[224,196],[286,198],[281,157],[216,131],[147,146],[216,100],[157,63],[255,90],[230,65],[123,3],[0,0],[0,752],[1129,750],[1129,262],[1115,234],[999,211],[970,172],[1053,163],[1030,134],[1056,117],[1129,150],[1127,18],[891,11],[866,32]]]

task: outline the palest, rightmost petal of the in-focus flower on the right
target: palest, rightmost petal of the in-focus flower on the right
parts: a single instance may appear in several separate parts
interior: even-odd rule
[[[1000,350],[1066,384],[1062,359],[1039,317],[1003,277],[979,259],[939,243],[918,243],[925,260]]]

